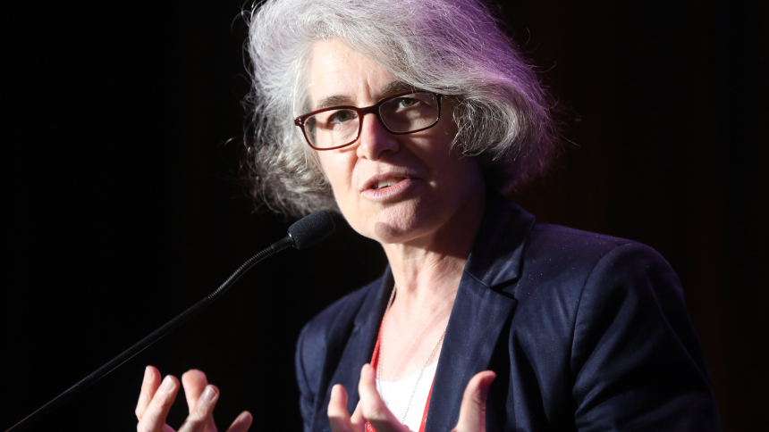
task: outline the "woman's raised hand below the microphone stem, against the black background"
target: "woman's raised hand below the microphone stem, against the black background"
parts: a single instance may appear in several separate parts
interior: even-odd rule
[[[209,385],[206,374],[200,370],[185,372],[182,375],[182,386],[190,415],[182,423],[179,432],[216,432],[214,407],[219,399],[219,389]],[[173,432],[173,428],[165,424],[165,418],[178,391],[179,380],[176,377],[168,375],[161,383],[160,372],[154,366],[148,366],[144,371],[139,403],[136,404],[136,417],[139,419],[137,432]],[[245,432],[252,421],[249,411],[243,411],[227,432]]]

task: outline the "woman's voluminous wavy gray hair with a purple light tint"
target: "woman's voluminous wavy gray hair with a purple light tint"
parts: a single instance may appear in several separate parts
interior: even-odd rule
[[[249,17],[253,195],[278,212],[338,212],[317,154],[293,119],[309,111],[313,44],[337,37],[411,87],[457,99],[452,147],[503,193],[556,153],[554,104],[478,0],[266,0]]]

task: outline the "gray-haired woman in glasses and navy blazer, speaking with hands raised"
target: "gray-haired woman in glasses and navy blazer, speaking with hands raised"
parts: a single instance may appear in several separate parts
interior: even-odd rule
[[[667,262],[504,196],[545,170],[556,134],[482,4],[268,1],[249,54],[258,198],[341,212],[389,262],[300,335],[306,431],[718,429]],[[159,381],[148,369],[139,430],[165,423],[178,383]],[[182,381],[190,430],[211,428],[215,387]]]

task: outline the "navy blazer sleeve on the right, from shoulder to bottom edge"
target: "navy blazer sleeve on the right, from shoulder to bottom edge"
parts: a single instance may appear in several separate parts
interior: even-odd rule
[[[679,279],[646,245],[619,245],[591,271],[570,370],[580,431],[720,430]]]

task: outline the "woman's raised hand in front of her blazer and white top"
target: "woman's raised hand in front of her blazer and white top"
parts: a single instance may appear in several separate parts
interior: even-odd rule
[[[376,432],[410,432],[385,406],[376,391],[373,372],[374,369],[368,363],[360,370],[360,401],[352,416],[347,411],[347,391],[344,387],[337,384],[331,389],[328,421],[333,432],[364,432],[366,421],[371,422]],[[460,419],[452,432],[486,432],[486,396],[494,378],[494,372],[484,370],[470,379],[462,396]]]

